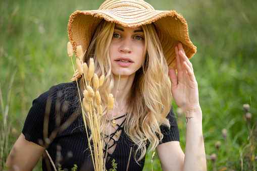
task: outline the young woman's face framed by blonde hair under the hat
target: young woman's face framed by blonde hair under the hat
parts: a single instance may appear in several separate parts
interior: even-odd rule
[[[109,55],[114,76],[135,76],[143,63],[144,32],[142,28],[128,28],[116,24]]]

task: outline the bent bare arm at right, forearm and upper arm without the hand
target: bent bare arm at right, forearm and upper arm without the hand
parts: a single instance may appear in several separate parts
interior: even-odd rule
[[[163,170],[207,170],[201,119],[192,118],[186,125],[186,148],[179,141],[158,145],[157,153]]]

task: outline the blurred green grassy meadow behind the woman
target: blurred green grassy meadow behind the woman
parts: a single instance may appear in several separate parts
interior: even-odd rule
[[[32,100],[53,85],[70,82],[69,16],[76,10],[98,9],[102,2],[0,1],[1,167],[21,133]],[[199,85],[208,170],[256,169],[257,1],[146,2],[156,10],[181,13],[197,46],[191,62]],[[252,114],[247,121],[245,103]],[[184,150],[185,120],[177,117]],[[217,141],[220,149],[215,147]],[[217,159],[212,161],[213,153]],[[146,156],[144,170],[151,170],[151,155]],[[157,154],[152,165],[153,170],[161,170]],[[40,170],[40,164],[34,170]]]

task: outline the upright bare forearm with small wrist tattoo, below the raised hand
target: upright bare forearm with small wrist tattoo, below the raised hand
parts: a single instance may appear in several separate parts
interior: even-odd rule
[[[183,170],[207,170],[200,107],[186,111],[186,148]]]

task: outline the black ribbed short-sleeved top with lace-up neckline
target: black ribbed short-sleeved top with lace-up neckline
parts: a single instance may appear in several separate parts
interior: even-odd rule
[[[75,98],[77,95],[76,82],[51,87],[33,100],[22,133],[26,140],[45,146],[57,167],[61,164],[62,169],[71,170],[76,164],[78,170],[93,170],[81,107],[78,107],[80,102],[79,98]],[[161,126],[164,134],[162,143],[179,141],[178,126],[172,109],[167,118],[171,128]],[[47,131],[43,131],[43,128]],[[147,144],[147,148],[148,146],[149,144]],[[113,159],[115,159],[115,163],[118,163],[117,170],[126,170],[130,147],[133,147],[134,151],[134,143],[122,131],[117,146],[106,163],[107,170],[112,168]],[[129,170],[142,170],[144,159],[137,164],[133,151]],[[43,157],[42,168],[43,170],[54,170],[47,156]]]

